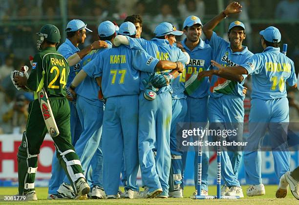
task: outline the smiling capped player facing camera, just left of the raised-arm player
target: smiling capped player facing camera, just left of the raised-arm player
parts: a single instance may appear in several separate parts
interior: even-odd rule
[[[185,93],[187,95],[187,114],[184,122],[202,123],[203,127],[208,123],[208,90],[210,87],[208,77],[198,79],[198,73],[210,69],[212,59],[212,48],[201,38],[202,23],[198,17],[189,16],[184,21],[184,34],[186,38],[181,41],[183,48],[190,56],[190,62],[186,65]],[[172,83],[173,84],[173,83]],[[172,85],[171,85],[172,86]],[[173,86],[172,86],[173,88]],[[174,90],[174,88],[173,88]],[[173,118],[172,112],[172,118]],[[183,120],[181,121],[183,122]],[[197,139],[196,139],[197,140]],[[182,176],[186,166],[187,153],[182,155]],[[174,160],[173,160],[174,161]],[[202,189],[201,195],[208,195],[208,168],[209,152],[204,151],[202,155]],[[197,185],[197,154],[194,156],[194,184]],[[197,194],[196,191],[193,194]]]

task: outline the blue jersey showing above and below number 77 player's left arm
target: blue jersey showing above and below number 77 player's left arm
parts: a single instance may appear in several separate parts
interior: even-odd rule
[[[105,49],[112,48],[112,43],[106,40],[108,47]],[[82,58],[80,67],[83,68],[87,63],[89,63],[93,58],[98,56],[105,49],[92,50]],[[96,106],[103,107],[103,102],[98,98],[98,91],[100,87],[95,78],[86,76],[85,79],[79,84],[77,88],[77,94],[84,97],[84,100],[88,103]]]

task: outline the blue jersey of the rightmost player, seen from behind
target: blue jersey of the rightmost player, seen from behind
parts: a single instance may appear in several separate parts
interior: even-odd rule
[[[251,98],[270,100],[286,97],[285,82],[290,86],[297,83],[294,62],[280,53],[279,48],[269,46],[241,66],[252,75]]]

